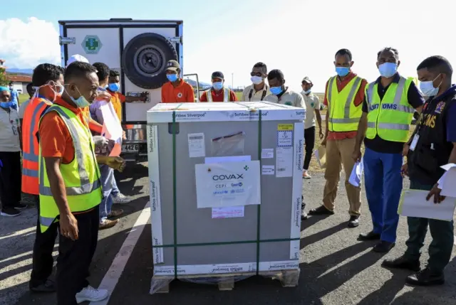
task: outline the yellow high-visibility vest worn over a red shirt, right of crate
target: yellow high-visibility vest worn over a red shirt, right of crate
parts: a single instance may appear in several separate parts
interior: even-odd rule
[[[362,104],[355,106],[356,92],[361,87],[361,77],[353,80],[338,92],[337,76],[328,80],[326,99],[328,100],[328,129],[331,132],[351,132],[358,130],[359,119],[363,112]]]

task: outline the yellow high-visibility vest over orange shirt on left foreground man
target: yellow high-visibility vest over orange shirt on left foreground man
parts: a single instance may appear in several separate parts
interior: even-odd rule
[[[61,164],[60,171],[65,182],[66,198],[71,212],[83,212],[100,204],[101,193],[100,168],[93,151],[93,139],[90,130],[74,112],[60,105],[52,105],[46,111],[55,111],[65,122],[73,139],[75,157],[70,164]],[[40,121],[41,123],[41,121]],[[41,232],[57,220],[59,215],[49,184],[44,158],[39,151],[39,196]]]

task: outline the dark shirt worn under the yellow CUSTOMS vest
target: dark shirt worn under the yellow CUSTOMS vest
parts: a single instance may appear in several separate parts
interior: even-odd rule
[[[391,82],[391,84],[386,87],[383,87],[380,79],[381,77],[378,77],[377,80],[375,80],[375,84],[377,84],[378,96],[380,97],[380,100],[383,100],[386,90],[388,90],[393,82],[399,82],[400,75],[399,73],[396,73],[394,75],[393,82]],[[416,87],[415,82],[412,82],[410,84],[410,87],[408,87],[407,100],[408,104],[410,104],[410,106],[415,109],[425,103],[425,99],[423,95],[421,95],[420,90],[418,90]],[[366,96],[364,97],[363,101],[363,112],[368,113],[368,101],[366,100]],[[373,139],[364,139],[364,146],[366,146],[368,149],[372,149],[373,151],[377,151],[383,154],[401,154],[403,151],[404,143],[405,142],[386,141],[378,137],[378,134]]]

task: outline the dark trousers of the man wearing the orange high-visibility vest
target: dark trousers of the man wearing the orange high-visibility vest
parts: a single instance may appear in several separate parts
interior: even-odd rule
[[[40,205],[39,196],[33,196],[38,202],[38,221],[36,222],[35,244],[33,245],[33,260],[30,277],[30,286],[36,287],[44,284],[52,274],[54,244],[58,233],[58,223],[53,223],[46,232],[40,230]]]

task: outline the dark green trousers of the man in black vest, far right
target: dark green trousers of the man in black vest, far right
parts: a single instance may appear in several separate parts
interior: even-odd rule
[[[430,191],[432,186],[423,185],[410,179],[410,189]],[[433,198],[432,198],[433,199]],[[430,199],[429,204],[434,204]],[[450,200],[447,198],[445,200]],[[429,245],[429,260],[427,267],[434,272],[443,272],[450,262],[453,248],[453,222],[427,218],[408,217],[408,240],[405,257],[408,259],[420,259],[420,249],[423,247],[429,225],[432,242]]]

